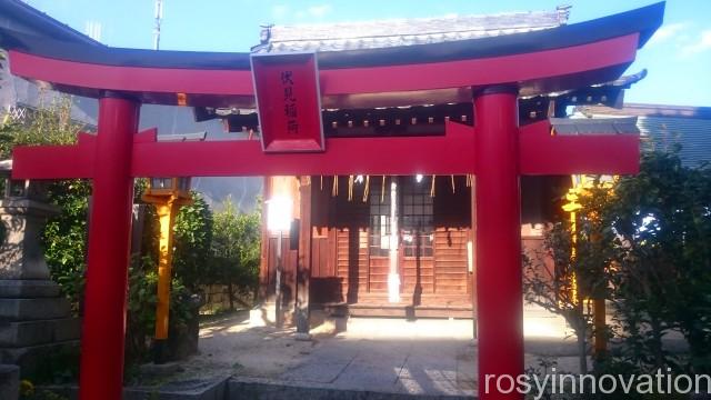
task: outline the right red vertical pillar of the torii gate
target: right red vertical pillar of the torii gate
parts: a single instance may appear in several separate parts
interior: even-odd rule
[[[521,208],[518,89],[474,92],[477,163],[477,307],[479,398],[522,399],[497,392],[495,379],[523,373]],[[487,376],[489,378],[487,382]],[[487,384],[489,383],[489,384]],[[502,380],[509,389],[510,380]],[[489,386],[487,390],[487,386]]]

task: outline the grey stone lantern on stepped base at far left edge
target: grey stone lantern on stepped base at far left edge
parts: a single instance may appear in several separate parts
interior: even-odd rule
[[[44,183],[13,180],[11,171],[12,161],[0,161],[0,348],[3,363],[32,374],[47,357],[78,348],[80,320],[50,279],[39,243],[59,210],[44,202]]]

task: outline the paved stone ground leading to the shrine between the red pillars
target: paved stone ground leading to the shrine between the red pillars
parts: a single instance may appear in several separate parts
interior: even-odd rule
[[[232,376],[289,386],[428,396],[473,396],[477,346],[467,320],[351,319],[348,331],[298,341],[291,329],[252,327],[247,313],[203,324],[200,354],[172,379]],[[577,366],[574,342],[533,342],[528,366],[554,356]],[[561,366],[562,361],[562,366]],[[571,368],[572,367],[572,368]]]

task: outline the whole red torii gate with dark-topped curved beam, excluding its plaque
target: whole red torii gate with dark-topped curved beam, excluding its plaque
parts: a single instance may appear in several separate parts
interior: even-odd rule
[[[470,90],[474,127],[447,122],[438,137],[327,138],[326,151],[308,153],[264,153],[258,141],[157,142],[154,130],[137,132],[142,102],[253,104],[250,54],[91,48],[0,32],[16,76],[99,99],[97,136],[13,152],[17,179],[93,181],[81,399],[121,397],[133,178],[352,173],[477,176],[479,394],[522,398],[484,392],[487,374],[523,373],[519,177],[635,173],[639,138],[552,136],[548,121],[519,127],[518,96],[618,78],[661,24],[663,8],[495,38],[318,53],[326,103]]]

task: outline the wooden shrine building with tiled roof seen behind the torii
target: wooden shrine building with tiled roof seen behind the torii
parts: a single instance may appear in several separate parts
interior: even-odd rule
[[[510,36],[564,26],[569,8],[550,12],[497,16],[458,16],[438,19],[371,21],[298,27],[267,27],[256,53],[300,51],[349,51],[421,43]],[[643,71],[644,72],[644,71]],[[605,121],[563,120],[569,106],[621,107],[623,90],[644,73],[623,77],[594,87],[519,99],[521,124],[553,118],[563,134],[575,134],[587,124]],[[431,91],[428,97],[387,93],[377,101],[365,96],[324,99],[322,111],[327,138],[427,137],[444,132],[452,121],[473,126],[471,92]],[[424,103],[424,102],[429,103]],[[372,107],[377,104],[379,107]],[[223,118],[230,130],[257,130],[256,110],[198,109],[199,119]],[[618,133],[638,133],[634,127],[618,127]],[[582,129],[580,132],[585,132]],[[362,154],[363,158],[369,154]],[[473,249],[473,176],[306,176],[272,177],[264,182],[264,199],[293,200],[296,220],[308,213],[310,226],[293,226],[282,242],[281,284],[287,320],[304,290],[313,309],[334,314],[377,317],[472,318],[477,260]],[[300,182],[310,182],[300,192]],[[524,251],[540,249],[543,228],[561,212],[570,176],[521,178],[521,238]],[[394,187],[392,186],[394,183]],[[394,188],[394,189],[393,189]],[[394,201],[394,207],[393,206]],[[394,211],[393,211],[394,210]],[[394,213],[393,213],[394,212]],[[397,240],[391,241],[397,226]],[[310,236],[308,271],[298,272],[299,234]],[[291,240],[288,240],[291,239]],[[260,297],[273,302],[278,281],[278,234],[263,224]],[[391,247],[394,246],[394,251]],[[400,280],[399,300],[389,300],[391,258]],[[308,280],[308,282],[306,282]],[[308,288],[308,289],[307,289]]]

